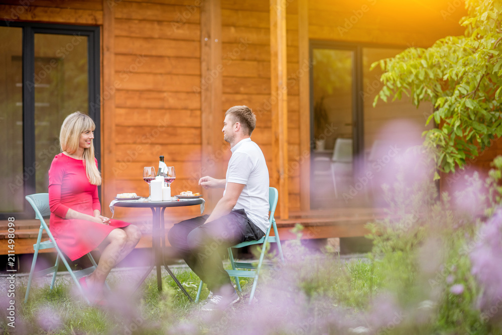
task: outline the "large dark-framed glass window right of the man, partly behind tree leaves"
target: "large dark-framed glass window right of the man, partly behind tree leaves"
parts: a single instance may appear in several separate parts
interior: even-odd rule
[[[370,65],[403,49],[311,42],[312,208],[381,205],[385,166],[421,143],[430,103],[372,105],[382,70]]]

